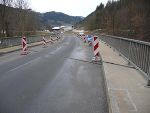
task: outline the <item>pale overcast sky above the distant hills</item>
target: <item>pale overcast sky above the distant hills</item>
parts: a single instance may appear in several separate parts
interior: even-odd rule
[[[86,17],[93,12],[101,2],[108,0],[29,0],[32,10],[37,12],[57,11],[72,16]]]

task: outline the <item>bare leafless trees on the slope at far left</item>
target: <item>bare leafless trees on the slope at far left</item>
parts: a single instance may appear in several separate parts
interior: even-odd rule
[[[34,34],[41,28],[38,15],[28,9],[28,3],[24,0],[1,0],[0,37]]]

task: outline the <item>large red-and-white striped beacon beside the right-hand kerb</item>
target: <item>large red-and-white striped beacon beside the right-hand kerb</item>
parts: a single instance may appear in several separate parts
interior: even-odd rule
[[[93,51],[94,57],[93,60],[99,61],[100,60],[100,53],[99,53],[99,40],[97,36],[93,37]]]

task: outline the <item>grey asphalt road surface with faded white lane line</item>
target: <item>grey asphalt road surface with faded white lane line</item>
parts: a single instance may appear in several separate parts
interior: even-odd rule
[[[47,48],[0,56],[0,113],[108,113],[92,48],[66,34]]]

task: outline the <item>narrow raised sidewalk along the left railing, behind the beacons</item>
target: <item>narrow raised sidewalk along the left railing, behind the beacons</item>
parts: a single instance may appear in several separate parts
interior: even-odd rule
[[[57,39],[55,39],[55,40],[57,40]],[[49,40],[47,40],[47,43],[51,42],[53,44],[55,40],[49,39]],[[34,47],[34,46],[42,45],[42,41],[27,44],[27,45],[28,45],[28,47]],[[22,49],[22,45],[8,47],[8,48],[2,48],[2,49],[0,49],[0,55],[10,53],[10,52],[14,52],[14,51],[18,51],[18,50],[21,50],[21,49]]]

